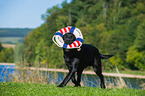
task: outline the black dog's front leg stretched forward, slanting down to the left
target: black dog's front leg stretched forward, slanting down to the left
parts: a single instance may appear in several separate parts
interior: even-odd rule
[[[77,71],[78,64],[79,64],[79,59],[74,58],[71,62],[72,70],[69,71],[69,73],[67,74],[67,76],[65,77],[63,82],[58,87],[64,87],[69,82],[69,80],[75,75],[75,72]]]

